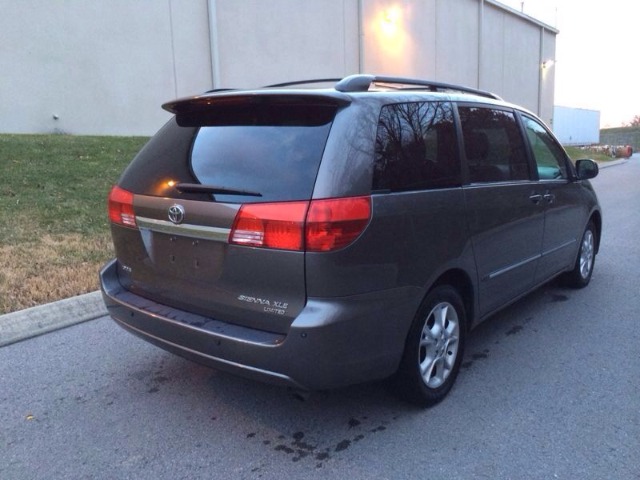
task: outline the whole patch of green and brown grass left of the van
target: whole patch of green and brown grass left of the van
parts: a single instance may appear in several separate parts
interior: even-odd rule
[[[97,288],[112,255],[106,198],[146,141],[0,135],[0,313]]]

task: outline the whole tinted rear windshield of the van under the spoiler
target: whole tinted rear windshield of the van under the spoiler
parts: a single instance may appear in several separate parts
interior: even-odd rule
[[[178,115],[140,151],[119,184],[134,193],[177,199],[308,200],[336,110],[262,104]],[[171,186],[181,183],[214,187],[216,193]]]

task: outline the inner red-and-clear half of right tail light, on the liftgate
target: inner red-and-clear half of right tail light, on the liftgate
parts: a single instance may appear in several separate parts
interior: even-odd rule
[[[302,250],[308,202],[249,203],[238,211],[229,242],[251,247]]]

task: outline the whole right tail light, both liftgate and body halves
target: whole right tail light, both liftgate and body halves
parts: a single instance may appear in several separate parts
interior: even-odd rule
[[[370,217],[370,197],[246,204],[236,215],[229,243],[329,252],[351,244]]]

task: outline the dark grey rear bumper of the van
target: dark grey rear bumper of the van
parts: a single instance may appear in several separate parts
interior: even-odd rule
[[[165,350],[244,377],[320,390],[395,372],[417,289],[337,299],[308,299],[286,335],[195,315],[135,295],[120,284],[116,261],[100,272],[109,315]]]

